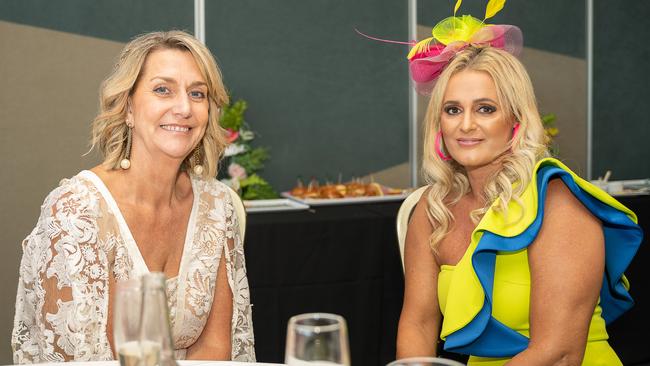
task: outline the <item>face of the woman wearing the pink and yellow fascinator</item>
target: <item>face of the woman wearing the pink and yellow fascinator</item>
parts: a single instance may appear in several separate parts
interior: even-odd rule
[[[440,128],[444,147],[460,165],[472,169],[495,161],[508,150],[512,127],[488,73],[467,69],[449,79]]]

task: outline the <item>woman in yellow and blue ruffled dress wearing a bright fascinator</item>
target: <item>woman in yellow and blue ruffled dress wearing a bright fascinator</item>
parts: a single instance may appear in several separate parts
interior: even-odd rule
[[[605,324],[632,306],[636,216],[550,158],[521,31],[451,17],[409,55],[431,92],[405,246],[398,358],[620,365]]]

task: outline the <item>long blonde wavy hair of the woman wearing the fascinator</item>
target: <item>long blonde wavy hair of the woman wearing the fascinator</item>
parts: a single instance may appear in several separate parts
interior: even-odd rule
[[[548,138],[537,109],[533,86],[524,66],[511,54],[492,47],[467,47],[459,52],[442,72],[431,93],[424,123],[422,174],[431,186],[427,214],[433,226],[429,245],[437,245],[449,233],[454,216],[452,206],[471,190],[464,168],[453,160],[443,161],[435,150],[440,131],[444,94],[449,79],[463,71],[482,71],[490,75],[497,89],[498,102],[509,121],[519,122],[519,131],[510,149],[500,157],[501,168],[487,181],[481,197],[486,205],[471,212],[474,223],[494,203],[494,209],[507,217],[508,204],[522,206],[520,196],[530,183],[535,164],[549,155]],[[516,220],[518,220],[517,218]]]

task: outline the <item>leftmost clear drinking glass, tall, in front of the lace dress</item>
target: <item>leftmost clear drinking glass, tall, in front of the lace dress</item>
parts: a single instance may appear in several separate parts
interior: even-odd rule
[[[121,366],[140,366],[142,284],[133,278],[117,282],[113,313],[113,343]]]

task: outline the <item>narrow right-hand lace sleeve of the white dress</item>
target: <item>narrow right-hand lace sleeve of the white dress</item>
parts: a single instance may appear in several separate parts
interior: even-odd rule
[[[250,304],[244,243],[239,235],[239,220],[234,211],[232,200],[225,192],[226,204],[226,269],[228,282],[233,292],[232,311],[232,360],[255,362],[255,339],[253,336],[253,319]]]

